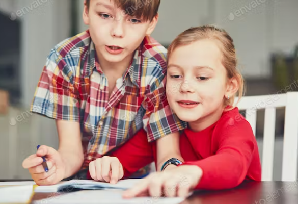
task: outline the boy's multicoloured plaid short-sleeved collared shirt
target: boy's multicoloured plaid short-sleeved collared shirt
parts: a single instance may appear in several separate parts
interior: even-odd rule
[[[83,169],[142,128],[149,142],[182,130],[185,124],[166,99],[166,53],[166,48],[145,37],[109,98],[89,31],[66,39],[47,58],[31,111],[80,122]]]

